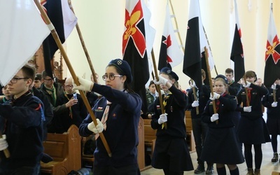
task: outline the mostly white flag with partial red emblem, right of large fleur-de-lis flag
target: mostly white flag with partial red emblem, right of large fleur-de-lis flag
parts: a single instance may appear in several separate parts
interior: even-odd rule
[[[160,58],[158,59],[158,70],[165,66],[172,68],[183,61],[183,52],[176,39],[172,20],[170,18],[169,6],[167,3],[165,12],[165,25],[160,45]]]

